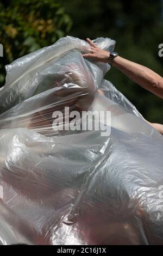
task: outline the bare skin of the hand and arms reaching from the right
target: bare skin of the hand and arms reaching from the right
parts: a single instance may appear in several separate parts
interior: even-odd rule
[[[89,38],[86,40],[90,44],[91,52],[83,54],[83,57],[92,57],[98,62],[108,63],[110,52],[102,50]],[[156,74],[151,69],[146,68],[146,66],[131,62],[120,56],[117,56],[114,59],[112,65],[121,70],[132,81],[163,99],[163,78],[160,75]],[[150,123],[148,121],[147,123],[163,135],[162,124]]]

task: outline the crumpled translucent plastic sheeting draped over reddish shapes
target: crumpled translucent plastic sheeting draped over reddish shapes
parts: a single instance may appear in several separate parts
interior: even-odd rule
[[[114,50],[114,40],[94,42]],[[6,67],[2,245],[163,244],[163,138],[103,79],[108,64],[83,59],[89,50],[67,36]],[[110,111],[110,135],[53,129],[54,111],[65,107]]]

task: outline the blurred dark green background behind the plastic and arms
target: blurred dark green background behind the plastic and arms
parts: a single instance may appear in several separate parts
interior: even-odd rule
[[[106,36],[116,40],[122,57],[151,68],[163,76],[162,0],[0,0],[0,83],[5,82],[4,65],[53,44],[61,36],[81,39]],[[123,75],[114,67],[106,74],[149,121],[163,123],[163,100]]]

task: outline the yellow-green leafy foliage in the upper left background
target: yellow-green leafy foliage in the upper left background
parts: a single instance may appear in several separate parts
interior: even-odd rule
[[[54,0],[11,1],[5,7],[0,1],[0,83],[4,84],[4,65],[29,52],[53,44],[70,31],[72,21],[64,8]]]

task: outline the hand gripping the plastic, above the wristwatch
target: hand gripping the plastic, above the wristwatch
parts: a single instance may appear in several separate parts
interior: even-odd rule
[[[83,54],[83,57],[92,57],[95,60],[97,60],[97,62],[108,63],[110,52],[102,50],[96,44],[94,44],[94,42],[92,42],[89,38],[87,38],[86,41],[90,44],[91,51],[90,53]]]

